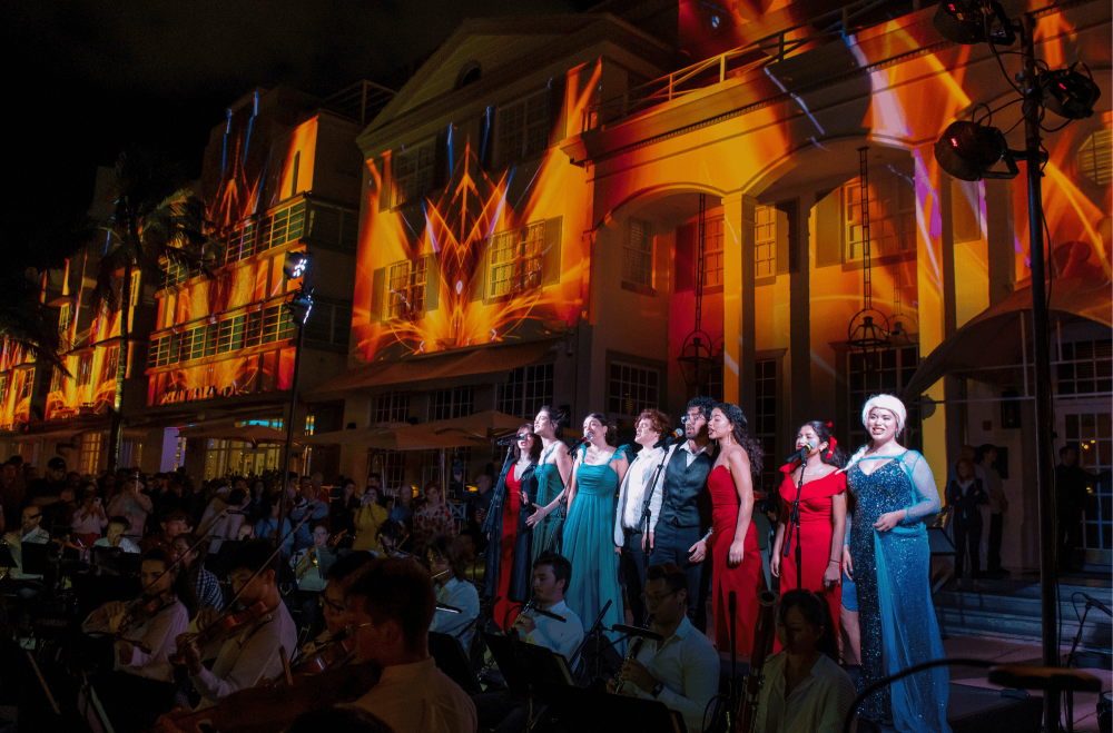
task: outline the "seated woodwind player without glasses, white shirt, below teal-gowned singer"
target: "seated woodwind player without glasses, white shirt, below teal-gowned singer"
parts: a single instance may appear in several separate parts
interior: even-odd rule
[[[511,628],[524,634],[530,644],[562,654],[569,666],[574,665],[572,655],[583,641],[583,624],[568,605],[564,593],[572,581],[572,565],[555,553],[543,552],[533,562],[533,597],[536,607],[561,616],[556,621],[544,614],[528,611],[514,620]]]

